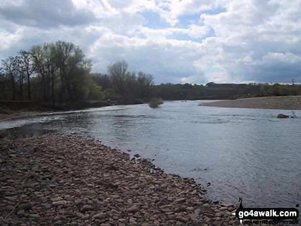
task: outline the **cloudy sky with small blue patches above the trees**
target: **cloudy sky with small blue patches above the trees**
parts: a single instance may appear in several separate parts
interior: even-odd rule
[[[0,59],[71,42],[155,84],[301,83],[300,0],[0,0]]]

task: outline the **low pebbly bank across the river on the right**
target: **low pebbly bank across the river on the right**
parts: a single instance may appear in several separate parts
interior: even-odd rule
[[[200,103],[199,106],[301,110],[301,96],[253,97]]]

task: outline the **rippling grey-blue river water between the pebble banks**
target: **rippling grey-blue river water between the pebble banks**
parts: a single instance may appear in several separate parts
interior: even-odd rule
[[[168,173],[193,177],[211,200],[245,207],[301,204],[301,111],[197,106],[166,101],[0,121],[0,132],[26,137],[79,134],[155,159]],[[211,185],[207,187],[207,183]]]

